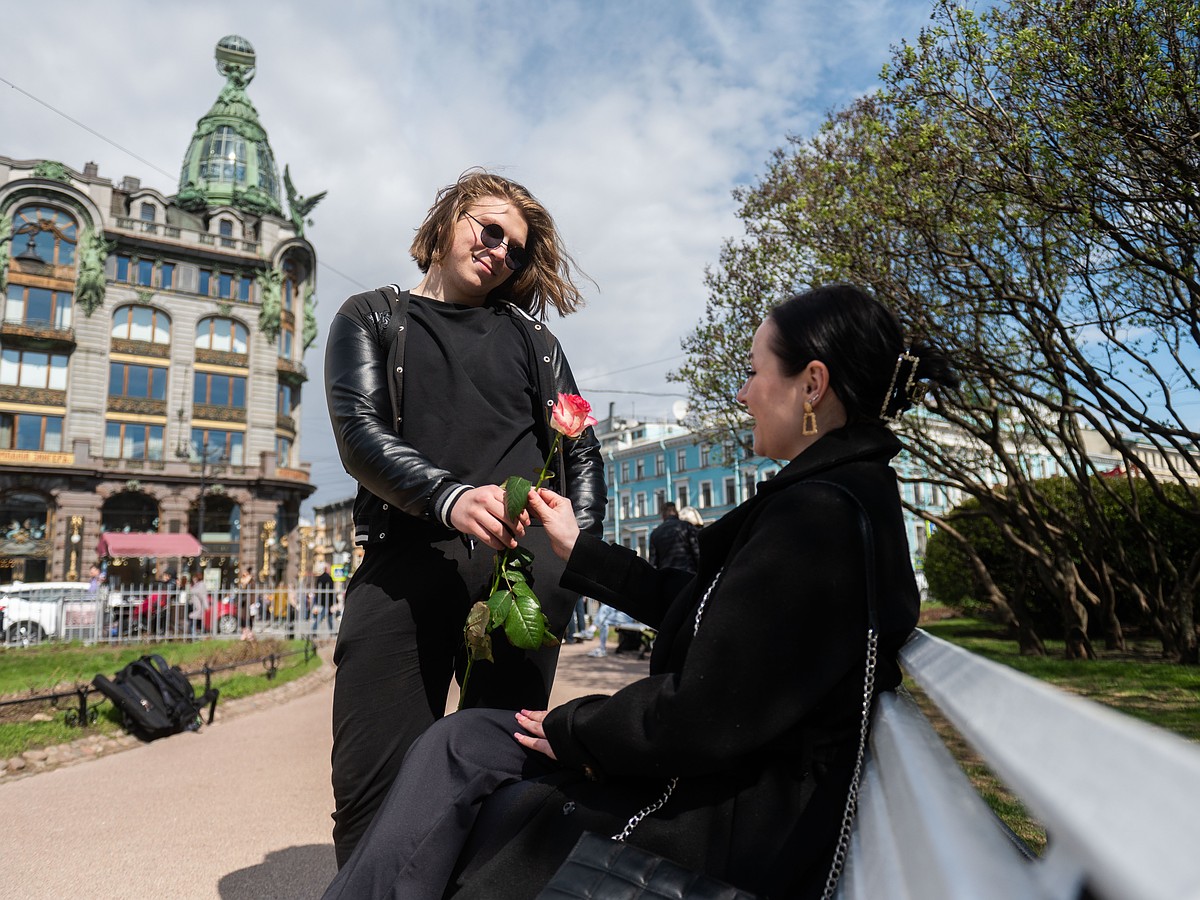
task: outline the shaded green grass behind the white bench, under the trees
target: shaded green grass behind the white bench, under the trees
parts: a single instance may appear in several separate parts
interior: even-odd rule
[[[964,649],[1009,666],[1062,690],[1103,703],[1142,721],[1166,728],[1188,740],[1200,740],[1200,670],[1162,660],[1148,641],[1129,641],[1124,653],[1097,647],[1100,659],[1067,660],[1062,642],[1046,641],[1048,656],[1022,656],[1004,629],[979,619],[954,618],[923,623],[929,634]],[[990,772],[922,691],[906,679],[934,728],[938,732],[976,790],[1037,853],[1045,848],[1045,829],[1021,802]]]

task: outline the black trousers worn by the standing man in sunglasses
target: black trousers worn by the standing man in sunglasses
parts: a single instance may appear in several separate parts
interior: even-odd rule
[[[562,636],[575,594],[558,587],[563,563],[541,528],[522,546],[534,553],[534,589],[551,631]],[[445,709],[450,678],[466,668],[463,624],[486,599],[494,553],[461,541],[371,545],[347,589],[334,662],[334,844],[350,858],[404,754]],[[545,709],[558,648],[517,650],[492,635],[494,662],[472,668],[464,707]]]

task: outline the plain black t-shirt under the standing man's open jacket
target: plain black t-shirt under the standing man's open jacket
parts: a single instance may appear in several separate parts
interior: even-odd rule
[[[546,458],[530,348],[492,307],[410,295],[403,437],[466,484],[536,478]]]

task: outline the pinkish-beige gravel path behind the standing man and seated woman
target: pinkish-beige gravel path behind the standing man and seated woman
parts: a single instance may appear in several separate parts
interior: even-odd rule
[[[635,654],[587,656],[594,646],[563,647],[551,706],[646,674]],[[0,784],[5,895],[319,898],[335,872],[324,650],[318,672],[218,706],[199,732]]]

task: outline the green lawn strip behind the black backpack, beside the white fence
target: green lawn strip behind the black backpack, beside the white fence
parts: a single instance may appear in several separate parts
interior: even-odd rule
[[[0,697],[14,700],[20,696],[71,690],[76,684],[90,683],[97,672],[112,677],[119,668],[146,653],[157,653],[169,664],[185,672],[204,667],[230,665],[236,661],[301,650],[304,641],[204,641],[194,643],[127,644],[119,647],[85,647],[78,643],[47,644],[30,648],[0,650]],[[305,662],[304,654],[296,653],[278,660],[275,678],[266,678],[260,662],[239,666],[212,674],[214,686],[221,690],[221,701],[236,700],[287,684],[322,665],[319,656]],[[193,676],[197,694],[204,689],[204,677]],[[67,716],[78,709],[74,697],[65,697],[52,703],[22,703],[0,707],[0,758],[16,756],[25,750],[36,750],[77,740],[90,733],[118,734],[122,731],[121,716],[103,696],[91,694],[89,708],[95,707],[97,718],[89,728],[67,724]],[[50,721],[34,721],[32,718]]]

